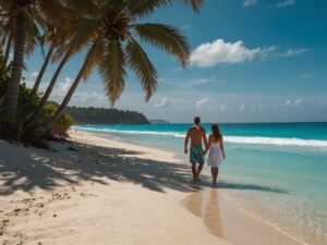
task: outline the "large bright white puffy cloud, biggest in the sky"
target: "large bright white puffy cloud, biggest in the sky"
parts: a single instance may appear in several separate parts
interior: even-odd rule
[[[225,42],[216,39],[213,42],[202,44],[191,54],[191,64],[201,68],[210,68],[216,64],[232,64],[252,61],[255,58],[265,58],[276,48],[246,48],[242,40]]]

